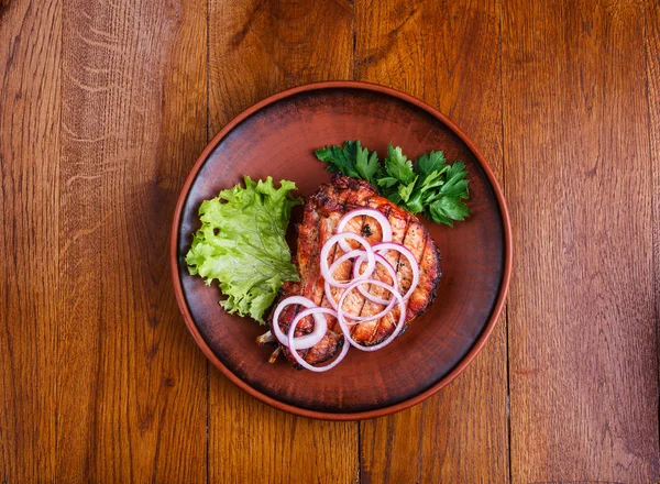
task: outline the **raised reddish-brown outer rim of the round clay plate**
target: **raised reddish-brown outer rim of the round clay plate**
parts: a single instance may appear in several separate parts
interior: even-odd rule
[[[497,205],[499,208],[499,212],[502,215],[502,220],[503,220],[503,226],[504,226],[503,228],[504,228],[504,258],[505,258],[505,261],[504,261],[504,273],[503,273],[502,284],[499,286],[497,298],[495,300],[495,307],[494,307],[493,311],[491,312],[491,316],[488,317],[488,320],[487,320],[484,329],[482,330],[481,334],[479,336],[476,341],[473,343],[473,345],[470,348],[468,353],[461,360],[459,360],[459,362],[451,369],[451,371],[447,375],[444,375],[442,378],[440,378],[438,382],[436,382],[433,385],[431,385],[424,392],[420,392],[419,394],[414,395],[414,396],[411,396],[403,402],[399,402],[397,404],[394,404],[394,405],[387,405],[384,407],[374,408],[374,409],[364,410],[364,411],[358,411],[358,413],[330,413],[330,411],[319,411],[319,410],[311,410],[311,409],[307,409],[307,408],[296,407],[295,405],[286,404],[284,402],[277,400],[276,398],[273,398],[268,395],[265,395],[265,394],[261,393],[260,391],[257,391],[256,388],[250,386],[244,381],[242,381],[239,376],[237,376],[233,372],[231,372],[220,361],[220,359],[216,355],[216,353],[207,344],[207,342],[202,338],[201,333],[199,332],[197,326],[195,324],[193,316],[190,315],[188,305],[186,302],[186,299],[184,296],[183,283],[180,280],[179,271],[178,271],[178,253],[177,253],[178,252],[178,250],[177,250],[177,248],[178,248],[178,229],[180,226],[183,208],[184,208],[185,201],[188,197],[190,187],[191,187],[193,183],[195,182],[195,178],[197,177],[197,174],[199,173],[201,166],[208,160],[208,157],[212,153],[212,151],[218,146],[218,144],[239,123],[241,123],[242,121],[244,121],[245,119],[248,119],[252,114],[254,114],[255,112],[260,111],[261,109],[263,109],[274,102],[296,96],[300,92],[312,91],[312,90],[323,90],[323,89],[337,89],[337,88],[360,89],[360,90],[366,90],[366,91],[372,91],[372,92],[385,94],[391,97],[406,101],[410,105],[414,105],[415,107],[422,109],[424,111],[428,112],[433,118],[436,118],[440,122],[442,122],[457,136],[459,136],[463,143],[465,143],[465,145],[474,154],[476,161],[479,162],[482,169],[486,174],[488,182],[491,183],[491,186],[493,188],[493,191],[495,193],[495,197],[497,199]],[[179,196],[177,198],[176,208],[174,211],[173,223],[172,223],[172,229],[170,229],[170,235],[169,235],[169,266],[170,266],[172,282],[174,284],[174,292],[175,292],[175,296],[176,296],[176,300],[177,300],[177,306],[184,317],[184,320],[186,322],[188,331],[193,334],[195,342],[201,349],[201,351],[205,353],[205,355],[209,359],[209,361],[211,363],[213,363],[213,365],[218,370],[220,370],[220,372],[224,376],[227,376],[234,385],[237,385],[242,391],[246,392],[249,395],[265,403],[266,405],[270,405],[271,407],[274,407],[278,410],[287,411],[289,414],[294,414],[294,415],[298,415],[298,416],[307,417],[307,418],[321,419],[321,420],[334,420],[334,421],[363,420],[363,419],[369,419],[369,418],[383,417],[386,415],[391,415],[391,414],[404,410],[404,409],[409,408],[414,405],[417,405],[417,404],[421,403],[422,400],[427,399],[428,397],[437,394],[441,388],[449,385],[457,376],[459,376],[463,372],[463,370],[465,370],[465,367],[472,362],[472,360],[474,360],[474,358],[479,354],[479,352],[483,349],[486,341],[490,339],[491,334],[493,333],[493,330],[495,328],[497,320],[499,319],[499,316],[502,314],[502,310],[504,309],[506,296],[508,293],[512,267],[513,267],[513,241],[512,241],[510,217],[509,217],[507,204],[504,198],[504,193],[502,190],[502,187],[499,186],[499,183],[497,182],[497,178],[495,177],[493,169],[486,162],[482,152],[472,142],[472,140],[470,138],[468,138],[468,135],[457,124],[454,124],[453,121],[451,121],[448,117],[442,114],[439,110],[437,110],[436,108],[428,105],[427,102],[425,102],[420,99],[417,99],[410,95],[407,95],[399,90],[396,90],[396,89],[393,89],[389,87],[385,87],[382,85],[377,85],[377,84],[364,82],[364,81],[359,81],[359,80],[327,80],[327,81],[319,81],[319,82],[310,82],[310,84],[305,84],[301,86],[297,86],[297,87],[294,87],[290,89],[283,90],[280,92],[268,96],[268,97],[262,99],[261,101],[252,105],[250,108],[245,109],[239,116],[233,118],[227,125],[224,125],[224,128],[222,128],[222,130],[220,130],[218,132],[218,134],[216,134],[209,141],[207,146],[204,148],[204,151],[200,153],[200,155],[197,157],[197,161],[190,168],[190,172],[188,173],[188,176],[186,177],[186,180],[185,180],[185,183],[180,189]]]

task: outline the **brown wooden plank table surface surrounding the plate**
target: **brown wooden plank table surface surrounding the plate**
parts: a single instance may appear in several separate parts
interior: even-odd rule
[[[0,482],[659,481],[657,2],[11,0],[0,66]],[[230,384],[167,267],[209,136],[322,79],[448,114],[514,229],[485,350],[361,422]]]

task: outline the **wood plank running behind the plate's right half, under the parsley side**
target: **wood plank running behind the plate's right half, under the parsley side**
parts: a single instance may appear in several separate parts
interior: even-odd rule
[[[502,179],[499,3],[364,0],[355,11],[355,77],[437,107]],[[503,317],[483,352],[439,395],[362,424],[362,482],[508,482],[506,402]]]

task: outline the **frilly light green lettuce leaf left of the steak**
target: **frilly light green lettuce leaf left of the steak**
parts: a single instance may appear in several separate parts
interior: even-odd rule
[[[255,183],[246,176],[244,182],[245,188],[237,185],[201,204],[201,228],[186,264],[207,286],[219,282],[227,311],[264,324],[282,284],[300,280],[285,234],[292,208],[302,200],[292,197],[293,182],[282,180],[279,188],[272,177]]]

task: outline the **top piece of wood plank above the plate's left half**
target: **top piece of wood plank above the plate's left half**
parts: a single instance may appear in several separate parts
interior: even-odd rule
[[[322,3],[210,0],[210,136],[275,92],[352,78],[352,1]]]

